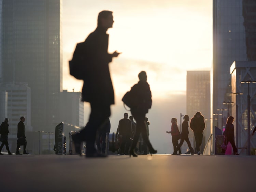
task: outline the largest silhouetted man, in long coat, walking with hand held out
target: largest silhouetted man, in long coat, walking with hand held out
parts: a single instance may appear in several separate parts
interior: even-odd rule
[[[120,53],[108,53],[108,28],[114,23],[112,11],[101,11],[98,15],[98,26],[84,43],[81,43],[84,61],[84,85],[82,101],[89,102],[91,114],[87,126],[73,136],[76,153],[81,153],[82,141],[86,141],[86,157],[106,157],[96,151],[96,132],[108,121],[110,105],[114,104],[114,89],[109,72],[109,63]]]

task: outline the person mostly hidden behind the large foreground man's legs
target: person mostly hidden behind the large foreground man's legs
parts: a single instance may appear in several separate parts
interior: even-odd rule
[[[98,151],[102,154],[105,154],[106,136],[109,136],[110,127],[111,125],[108,118],[106,124],[102,128],[99,128],[99,131],[98,131],[99,134],[98,134],[97,148],[98,148]],[[102,141],[102,146],[101,146],[101,141]]]

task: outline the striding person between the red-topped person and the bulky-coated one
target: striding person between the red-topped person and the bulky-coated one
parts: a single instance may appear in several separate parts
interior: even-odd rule
[[[190,143],[189,138],[188,138],[188,134],[189,134],[189,131],[188,131],[188,121],[189,121],[189,116],[185,115],[184,116],[184,121],[182,122],[181,140],[180,140],[180,143],[177,146],[176,150],[174,151],[174,154],[177,153],[177,151],[182,146],[183,142],[186,141],[187,145],[188,145],[188,148],[189,148],[189,151],[186,154],[190,154],[191,153],[192,155],[194,155],[194,149],[192,148],[191,143]]]

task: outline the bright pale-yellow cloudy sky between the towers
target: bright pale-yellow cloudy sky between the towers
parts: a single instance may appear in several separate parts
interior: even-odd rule
[[[160,153],[172,153],[172,117],[186,113],[186,71],[212,66],[211,0],[63,0],[63,89],[81,91],[83,82],[69,75],[68,61],[76,43],[97,27],[102,10],[113,11],[108,30],[109,52],[122,52],[109,64],[115,90],[111,106],[111,132],[126,110],[121,101],[147,72],[152,92],[150,141]],[[85,104],[85,122],[90,108]],[[130,113],[129,113],[130,114]]]

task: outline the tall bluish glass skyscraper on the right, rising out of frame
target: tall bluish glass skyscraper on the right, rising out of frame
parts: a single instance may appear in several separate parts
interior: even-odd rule
[[[255,35],[251,35],[247,26],[253,19],[246,16],[245,2],[246,0],[213,0],[212,113],[217,113],[217,109],[227,108],[223,101],[231,101],[230,66],[234,61],[248,61],[247,55],[251,54],[250,47],[253,45],[246,43],[246,39],[248,35],[255,39]],[[256,9],[253,12],[255,14]],[[227,113],[224,115],[227,116]]]

